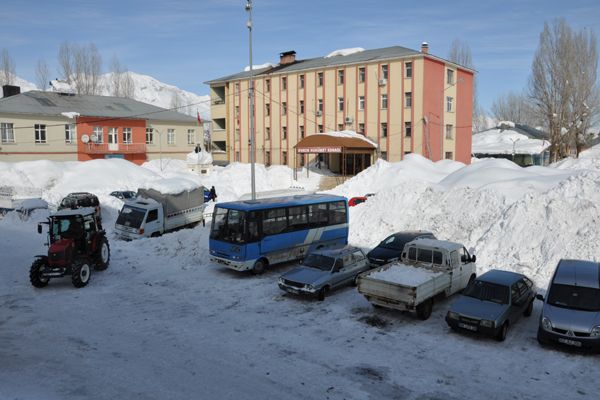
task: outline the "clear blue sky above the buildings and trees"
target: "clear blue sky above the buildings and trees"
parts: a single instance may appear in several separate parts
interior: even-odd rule
[[[202,82],[248,65],[245,0],[2,0],[0,49],[17,75],[35,83],[44,59],[58,77],[60,44],[93,42],[104,62],[113,55],[129,70],[198,94]],[[279,53],[324,56],[341,48],[400,45],[448,55],[460,39],[471,47],[480,103],[527,85],[545,21],[564,17],[576,29],[599,35],[598,0],[505,1],[281,1],[254,2],[254,64],[277,62]]]

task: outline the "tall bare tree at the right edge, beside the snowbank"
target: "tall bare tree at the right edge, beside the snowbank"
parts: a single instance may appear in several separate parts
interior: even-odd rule
[[[553,161],[578,155],[598,114],[598,48],[590,30],[564,19],[544,24],[529,80],[534,110],[547,125]]]

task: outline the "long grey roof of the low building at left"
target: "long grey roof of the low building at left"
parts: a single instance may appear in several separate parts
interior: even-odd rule
[[[196,118],[124,97],[80,95],[33,90],[0,99],[2,114],[33,114],[66,117],[131,118],[174,122],[196,122]]]

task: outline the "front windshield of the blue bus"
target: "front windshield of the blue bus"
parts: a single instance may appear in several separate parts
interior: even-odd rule
[[[238,244],[257,241],[256,212],[215,207],[210,238]]]

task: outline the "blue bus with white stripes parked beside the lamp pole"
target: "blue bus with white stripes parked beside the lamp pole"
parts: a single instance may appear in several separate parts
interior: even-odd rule
[[[346,244],[346,198],[312,194],[217,203],[209,247],[211,261],[260,274],[269,265]]]

